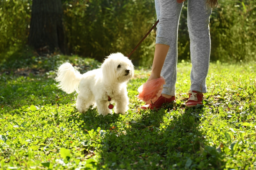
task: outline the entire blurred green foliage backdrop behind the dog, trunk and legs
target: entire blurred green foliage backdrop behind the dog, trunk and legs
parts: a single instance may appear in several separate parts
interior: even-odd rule
[[[70,53],[102,60],[113,52],[129,55],[156,22],[152,0],[62,0],[63,23]],[[27,43],[31,0],[0,0],[0,58],[15,55]],[[180,18],[178,56],[188,60],[187,1]],[[237,62],[256,60],[256,0],[219,0],[212,12],[211,60]],[[27,49],[27,47],[25,47]],[[135,65],[150,66],[155,31],[131,59]]]

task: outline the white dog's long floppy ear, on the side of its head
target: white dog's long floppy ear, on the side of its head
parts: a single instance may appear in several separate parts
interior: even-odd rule
[[[104,84],[117,82],[115,62],[111,58],[106,58],[102,63],[101,68]]]

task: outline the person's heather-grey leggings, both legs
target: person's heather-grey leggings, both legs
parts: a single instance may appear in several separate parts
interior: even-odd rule
[[[166,85],[162,94],[175,96],[177,79],[177,41],[180,12],[183,3],[176,0],[155,0],[159,24],[156,31],[156,44],[170,46],[164,61],[161,75]],[[212,8],[206,0],[188,0],[188,31],[192,69],[190,90],[206,93],[206,76],[209,69],[211,39],[209,20]]]

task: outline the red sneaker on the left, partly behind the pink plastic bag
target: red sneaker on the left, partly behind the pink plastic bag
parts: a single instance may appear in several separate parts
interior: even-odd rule
[[[141,109],[144,109],[144,110],[147,110],[147,109],[150,109],[150,110],[159,110],[163,104],[171,104],[171,103],[175,103],[176,102],[176,99],[175,99],[175,96],[172,96],[171,98],[165,98],[164,96],[160,96],[152,105],[151,104],[146,104],[144,106],[141,106],[140,108]]]

